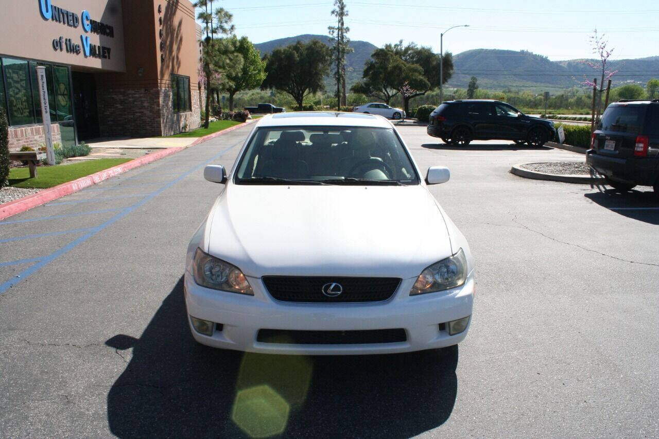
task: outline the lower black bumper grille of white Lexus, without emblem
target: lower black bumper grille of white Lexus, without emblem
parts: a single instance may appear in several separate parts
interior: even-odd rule
[[[256,341],[289,345],[362,345],[407,341],[404,329],[365,331],[259,330]]]

